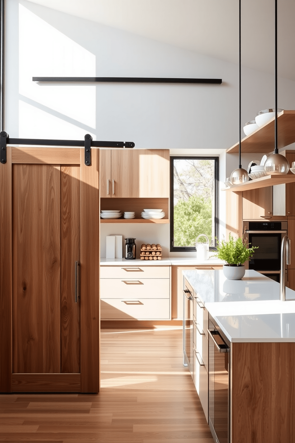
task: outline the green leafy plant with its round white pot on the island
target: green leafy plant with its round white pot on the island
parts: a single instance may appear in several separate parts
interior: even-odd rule
[[[217,241],[217,254],[220,260],[225,260],[223,265],[223,273],[229,280],[241,280],[245,275],[245,261],[249,260],[253,254],[254,249],[258,246],[249,247],[249,243],[244,239],[244,236],[234,239],[229,234],[229,240]]]

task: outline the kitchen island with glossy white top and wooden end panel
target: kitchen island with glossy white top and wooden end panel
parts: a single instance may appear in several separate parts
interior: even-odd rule
[[[295,292],[286,288],[287,300],[280,302],[280,285],[251,270],[242,280],[226,280],[223,272],[216,270],[190,270],[183,275],[184,290],[193,292],[196,305],[196,318],[190,323],[195,323],[190,354],[196,357],[191,373],[206,417],[206,395],[209,397],[209,425],[215,415],[219,443],[294,442],[295,301],[291,299],[295,299]],[[185,323],[189,324],[188,319]],[[230,351],[219,369],[216,363],[215,368],[211,364],[207,330],[212,330],[212,325]],[[188,331],[185,335],[188,337]],[[215,392],[211,392],[214,379]],[[216,420],[218,408],[226,408],[216,399],[226,389],[228,432],[225,420]]]

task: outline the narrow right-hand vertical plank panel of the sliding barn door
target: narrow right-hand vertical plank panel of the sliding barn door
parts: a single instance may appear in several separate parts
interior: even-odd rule
[[[80,373],[76,261],[80,262],[80,165],[61,166],[61,373]]]

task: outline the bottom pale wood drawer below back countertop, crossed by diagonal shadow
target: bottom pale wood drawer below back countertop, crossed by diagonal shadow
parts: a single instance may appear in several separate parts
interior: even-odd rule
[[[169,320],[170,299],[100,299],[102,320]]]

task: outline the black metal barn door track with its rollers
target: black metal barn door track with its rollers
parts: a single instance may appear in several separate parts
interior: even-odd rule
[[[10,138],[7,132],[0,132],[0,163],[6,163],[6,145],[25,144],[38,146],[80,146],[85,149],[85,165],[91,165],[91,148],[134,148],[133,141],[100,141],[92,140],[86,134],[84,140],[50,140],[50,139],[15,139]]]

